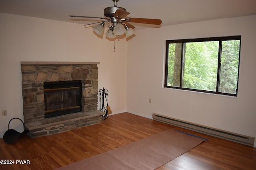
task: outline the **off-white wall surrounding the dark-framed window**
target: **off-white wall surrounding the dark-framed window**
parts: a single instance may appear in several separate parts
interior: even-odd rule
[[[247,16],[137,30],[128,41],[128,111],[256,137],[255,21],[256,16]],[[163,88],[165,40],[229,35],[242,35],[238,97]]]

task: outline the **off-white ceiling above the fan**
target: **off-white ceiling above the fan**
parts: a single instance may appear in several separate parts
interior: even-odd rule
[[[112,0],[0,0],[0,12],[89,24],[100,21],[68,15],[104,17]],[[161,19],[162,26],[256,14],[256,0],[120,0],[131,18]],[[135,29],[152,25],[132,23]]]

